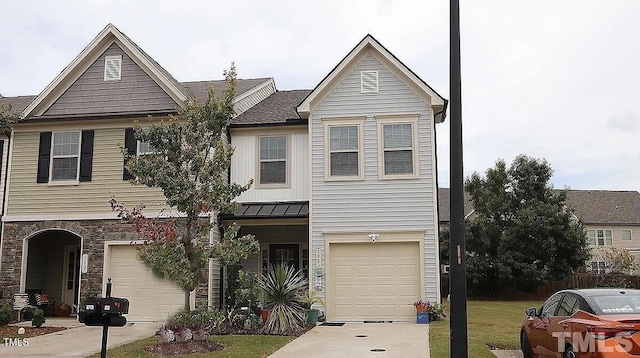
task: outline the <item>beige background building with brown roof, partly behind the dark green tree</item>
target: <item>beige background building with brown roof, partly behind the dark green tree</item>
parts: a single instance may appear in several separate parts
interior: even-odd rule
[[[438,190],[440,227],[449,225],[449,188]],[[600,271],[599,253],[609,247],[628,250],[640,265],[640,193],[637,191],[568,190],[568,207],[587,231],[592,260],[587,269]],[[465,216],[473,215],[473,204],[465,193]],[[445,268],[446,270],[446,268]]]

